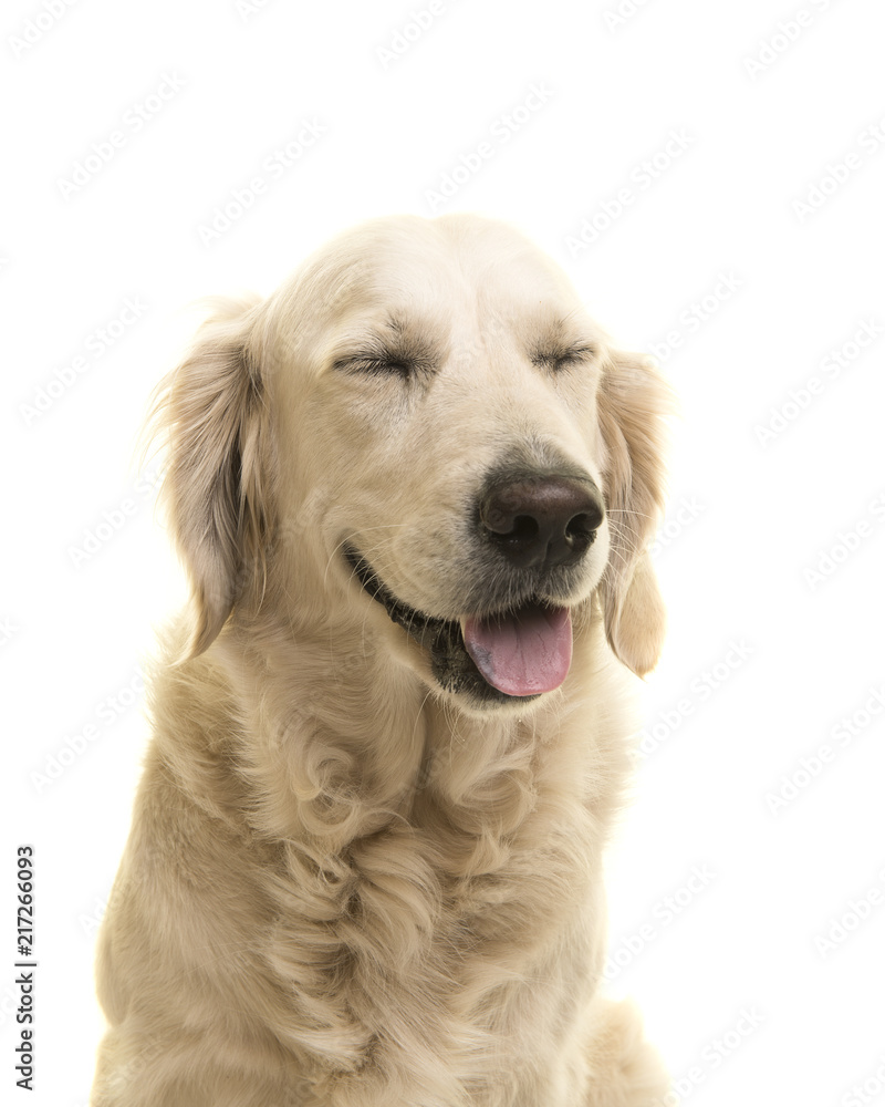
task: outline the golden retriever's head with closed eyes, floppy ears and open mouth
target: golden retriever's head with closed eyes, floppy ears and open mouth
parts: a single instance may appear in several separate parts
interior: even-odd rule
[[[398,217],[342,236],[269,300],[222,302],[167,383],[191,653],[235,610],[319,625],[346,609],[471,710],[522,704],[565,679],[595,593],[644,674],[667,407],[510,228]]]

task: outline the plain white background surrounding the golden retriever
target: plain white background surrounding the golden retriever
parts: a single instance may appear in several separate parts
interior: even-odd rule
[[[4,1101],[88,1094],[94,934],[147,737],[137,665],[185,594],[132,461],[184,309],[270,292],[363,217],[468,209],[522,227],[681,402],[613,989],[685,1101],[885,1103],[884,33],[878,0],[4,6]],[[12,1061],[24,841],[31,1096]]]

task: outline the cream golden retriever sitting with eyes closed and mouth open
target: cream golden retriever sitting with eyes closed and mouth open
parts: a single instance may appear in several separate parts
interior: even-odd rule
[[[103,924],[94,1107],[649,1107],[598,995],[669,394],[476,216],[218,301],[165,382],[192,606]]]

